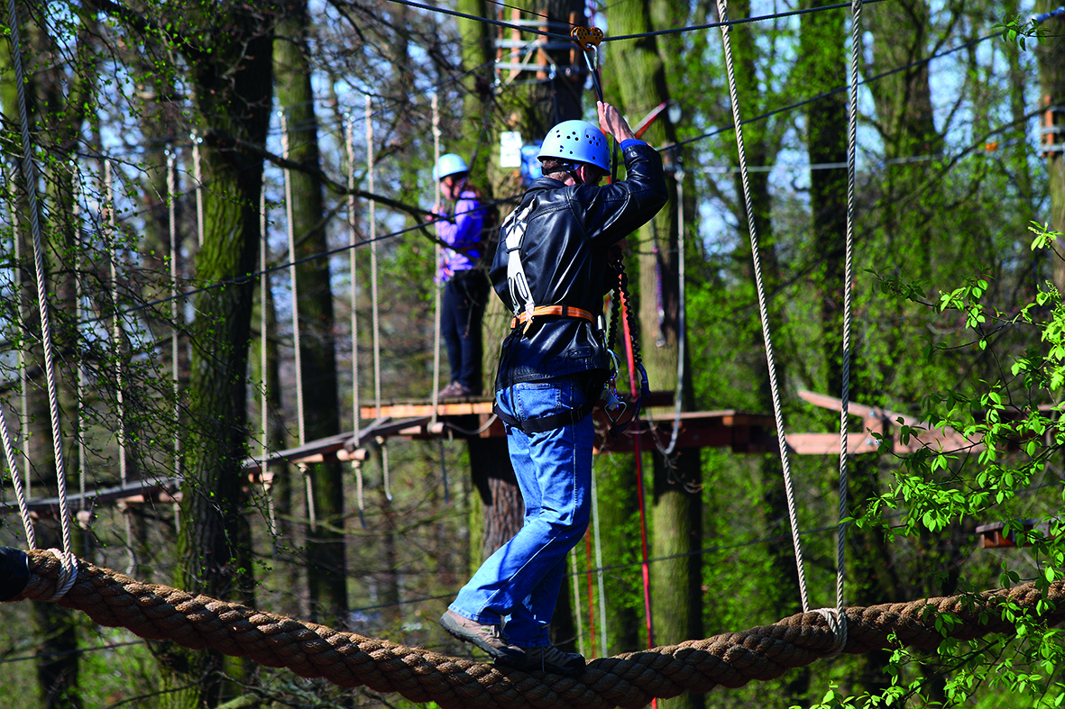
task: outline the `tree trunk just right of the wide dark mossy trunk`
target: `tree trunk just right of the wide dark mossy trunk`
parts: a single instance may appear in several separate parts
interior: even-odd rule
[[[323,224],[317,118],[311,90],[307,3],[296,0],[284,7],[274,42],[278,103],[288,116],[289,159],[309,172],[289,171],[291,228],[296,258],[329,249]],[[307,441],[340,432],[337,393],[337,352],[329,261],[314,259],[296,267],[299,294],[300,374]],[[347,574],[344,555],[344,481],[338,462],[320,463],[308,472],[312,481],[317,524],[307,532],[307,582],[311,617],[326,624],[341,623],[347,609]]]

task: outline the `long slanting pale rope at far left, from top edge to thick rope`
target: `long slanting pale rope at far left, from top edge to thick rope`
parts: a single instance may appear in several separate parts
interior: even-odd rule
[[[15,87],[18,94],[18,117],[22,138],[22,180],[30,207],[30,233],[33,235],[33,266],[37,279],[37,306],[40,313],[40,335],[45,350],[45,375],[48,381],[48,406],[52,425],[52,447],[55,454],[55,479],[59,485],[60,524],[63,530],[63,550],[70,554],[70,512],[66,498],[66,466],[63,460],[63,439],[60,433],[60,403],[55,384],[53,362],[52,329],[48,315],[47,287],[45,285],[45,259],[40,246],[40,218],[37,205],[37,171],[33,164],[33,147],[30,143],[30,119],[26,110],[26,78],[22,75],[22,52],[19,48],[18,15],[15,0],[7,0],[7,16],[11,32],[11,54],[15,65]],[[10,461],[9,461],[10,462]],[[76,572],[77,573],[77,572]]]

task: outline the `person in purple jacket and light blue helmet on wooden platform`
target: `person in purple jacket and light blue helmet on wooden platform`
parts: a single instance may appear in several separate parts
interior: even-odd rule
[[[470,168],[455,153],[440,156],[433,177],[446,208],[437,204],[437,236],[450,248],[441,249],[436,282],[443,283],[440,332],[447,347],[450,383],[440,390],[441,398],[474,396],[480,393],[480,321],[488,301],[489,282],[477,268],[481,258],[486,211],[480,195],[470,184]]]

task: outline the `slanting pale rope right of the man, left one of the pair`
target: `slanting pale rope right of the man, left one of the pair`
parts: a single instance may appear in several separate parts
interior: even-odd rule
[[[727,0],[718,0],[718,14],[721,21],[726,22],[728,16]],[[799,521],[796,512],[794,491],[791,487],[791,467],[788,462],[788,446],[784,435],[784,413],[781,407],[781,392],[776,383],[776,363],[773,359],[773,343],[769,333],[769,309],[766,306],[766,288],[761,280],[761,258],[758,251],[758,234],[754,225],[754,204],[751,201],[751,181],[747,169],[747,152],[743,148],[743,125],[739,117],[739,99],[736,89],[736,71],[733,67],[732,44],[728,24],[721,27],[721,38],[725,51],[725,69],[728,73],[728,97],[732,103],[733,126],[736,130],[736,149],[739,153],[740,177],[743,183],[743,205],[747,209],[748,232],[751,236],[751,258],[754,261],[754,280],[758,291],[758,314],[761,319],[761,334],[766,343],[766,361],[769,368],[769,384],[773,398],[773,416],[776,421],[776,438],[781,448],[781,465],[784,472],[784,488],[788,498],[788,520],[791,523],[791,541],[796,550],[796,565],[799,571],[799,594],[802,596],[803,612],[809,611],[809,596],[806,592],[806,574],[803,570],[802,543],[799,539]]]

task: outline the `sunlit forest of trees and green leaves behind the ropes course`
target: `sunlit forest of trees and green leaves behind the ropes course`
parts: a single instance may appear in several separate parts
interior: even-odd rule
[[[1049,582],[1063,559],[1053,541],[1063,492],[1065,262],[1053,238],[1065,228],[1063,20],[1017,20],[1053,10],[1049,0],[863,9],[847,282],[852,24],[847,7],[821,4],[728,9],[731,19],[764,17],[731,38],[788,432],[838,431],[838,414],[799,392],[839,394],[849,291],[850,399],[969,439],[897,455],[896,441],[915,430],[891,414],[880,452],[852,457],[846,604]],[[180,502],[78,502],[76,550],[95,563],[469,656],[436,619],[520,520],[499,441],[468,443],[458,431],[443,442],[368,441],[358,465],[274,464],[268,491],[248,484],[242,465],[264,448],[351,431],[356,392],[363,403],[424,399],[441,384],[436,245],[419,227],[436,199],[435,138],[468,159],[488,198],[520,194],[518,170],[499,165],[501,133],[529,143],[557,120],[592,117],[583,59],[557,38],[529,50],[538,35],[437,12],[445,5],[15,6],[65,438],[59,465],[5,19],[0,363],[20,451],[9,465],[35,498],[55,494],[61,468],[83,475],[89,493],[161,478],[180,488]],[[601,55],[606,98],[630,122],[669,108],[644,137],[662,149],[673,199],[630,237],[627,257],[652,388],[679,382],[687,411],[769,413],[721,31],[699,27],[720,19],[717,6],[446,9],[560,35],[571,23],[611,39],[640,35],[604,43]],[[541,70],[498,66],[517,60]],[[169,299],[171,290],[182,297]],[[486,316],[486,381],[505,319],[498,304]],[[651,413],[669,421],[672,409]],[[852,418],[852,432],[863,427]],[[655,644],[801,609],[776,455],[726,447],[644,459]],[[834,603],[837,469],[835,456],[791,457],[815,606]],[[578,545],[555,623],[556,642],[589,657],[648,643],[636,476],[632,455],[596,457],[602,559],[590,541]],[[0,501],[10,512],[7,482]],[[979,548],[978,525],[1006,521],[1022,538],[1020,520],[1042,521],[1032,533],[1046,537]],[[58,543],[53,517],[34,524],[38,546]],[[24,547],[16,514],[0,525],[3,544]],[[600,570],[605,593],[593,581]],[[662,706],[1058,706],[1061,640],[1038,624],[1022,629],[938,654],[837,657]],[[13,707],[409,704],[144,643],[53,604],[0,606],[0,682]]]

